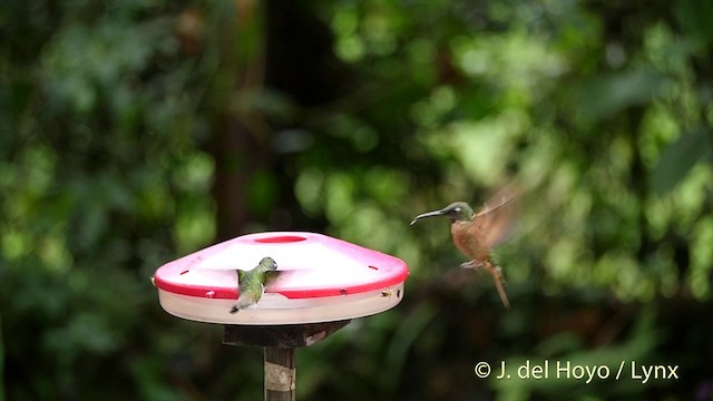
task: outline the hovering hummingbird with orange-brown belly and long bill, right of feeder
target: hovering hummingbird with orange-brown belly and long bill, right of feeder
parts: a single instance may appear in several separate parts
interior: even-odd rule
[[[490,250],[502,241],[507,233],[511,213],[506,213],[506,206],[512,206],[517,197],[517,193],[506,192],[495,198],[495,202],[485,203],[477,213],[467,203],[455,202],[440,211],[420,214],[411,222],[413,225],[426,217],[445,216],[450,218],[450,233],[456,247],[470,257],[470,262],[460,266],[465,268],[485,267],[492,275],[500,300],[507,310],[510,310],[510,302],[504,287],[502,270],[490,260]]]

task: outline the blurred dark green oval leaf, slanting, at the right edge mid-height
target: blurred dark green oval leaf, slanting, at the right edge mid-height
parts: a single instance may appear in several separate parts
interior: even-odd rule
[[[687,130],[676,141],[668,145],[649,175],[656,194],[665,194],[683,180],[704,156],[713,151],[711,130],[696,127]]]

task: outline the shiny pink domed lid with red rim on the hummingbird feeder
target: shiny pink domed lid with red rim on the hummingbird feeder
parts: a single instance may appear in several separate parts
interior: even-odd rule
[[[163,291],[202,299],[235,300],[235,270],[252,270],[272,257],[291,274],[266,293],[287,299],[315,299],[378,291],[401,284],[409,271],[394,256],[326,235],[267,232],[243,235],[160,266],[154,284]]]

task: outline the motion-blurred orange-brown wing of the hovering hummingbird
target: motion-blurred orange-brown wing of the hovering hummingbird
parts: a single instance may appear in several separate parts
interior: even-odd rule
[[[507,238],[516,219],[519,196],[516,188],[504,188],[476,213],[473,225],[484,247],[491,248]]]

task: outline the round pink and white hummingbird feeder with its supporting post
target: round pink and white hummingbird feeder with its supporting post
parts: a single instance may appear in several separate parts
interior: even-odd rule
[[[236,270],[250,271],[263,257],[274,260],[284,274],[265,285],[253,309],[231,313],[240,296]],[[226,344],[264,346],[265,398],[276,393],[294,399],[290,352],[324,339],[351,319],[395,306],[408,274],[406,263],[394,256],[326,235],[268,232],[169,262],[152,280],[166,312],[224,324]]]

